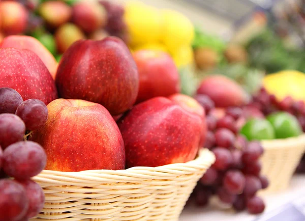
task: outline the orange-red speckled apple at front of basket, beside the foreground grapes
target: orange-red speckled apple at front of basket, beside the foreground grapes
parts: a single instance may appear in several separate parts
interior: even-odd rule
[[[105,107],[66,99],[56,99],[47,107],[46,124],[31,137],[46,151],[46,170],[125,169],[124,141]]]

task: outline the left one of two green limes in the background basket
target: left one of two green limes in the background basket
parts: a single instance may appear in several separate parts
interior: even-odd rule
[[[246,122],[240,130],[249,141],[272,140],[275,139],[275,130],[266,119],[251,119]]]

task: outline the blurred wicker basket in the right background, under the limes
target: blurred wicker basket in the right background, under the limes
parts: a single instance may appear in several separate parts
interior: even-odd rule
[[[288,139],[262,141],[262,174],[269,178],[269,187],[261,194],[285,190],[305,152],[305,134]]]

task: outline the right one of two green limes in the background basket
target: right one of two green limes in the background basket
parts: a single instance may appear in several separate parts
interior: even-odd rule
[[[298,136],[302,133],[296,117],[287,112],[278,112],[267,116],[267,120],[275,129],[277,139]]]

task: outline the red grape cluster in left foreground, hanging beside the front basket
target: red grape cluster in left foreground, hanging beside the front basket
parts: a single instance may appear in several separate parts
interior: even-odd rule
[[[31,177],[45,168],[47,157],[26,137],[47,116],[42,101],[23,101],[17,91],[0,88],[0,221],[28,220],[43,208],[44,192]]]

